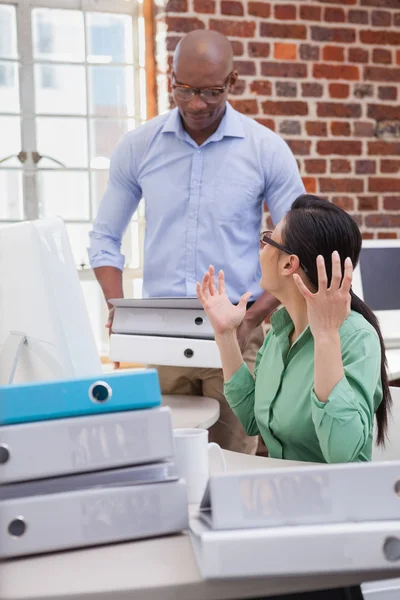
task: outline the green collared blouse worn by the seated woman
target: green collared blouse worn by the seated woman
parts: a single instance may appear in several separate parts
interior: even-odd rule
[[[371,460],[374,414],[382,401],[375,329],[352,311],[339,330],[345,376],[327,402],[314,394],[314,340],[307,327],[290,346],[285,308],[271,317],[255,377],[245,363],[225,383],[248,435],[261,434],[272,458],[323,463]]]

